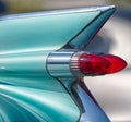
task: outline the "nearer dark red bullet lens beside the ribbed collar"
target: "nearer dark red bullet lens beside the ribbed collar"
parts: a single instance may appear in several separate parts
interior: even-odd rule
[[[83,53],[80,57],[79,66],[82,73],[96,75],[106,72],[111,63],[102,56]]]

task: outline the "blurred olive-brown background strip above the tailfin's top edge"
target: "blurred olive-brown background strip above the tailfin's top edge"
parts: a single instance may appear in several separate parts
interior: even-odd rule
[[[9,13],[20,13],[61,8],[75,8],[86,5],[117,4],[131,7],[131,0],[4,0]],[[107,2],[108,1],[108,2]]]

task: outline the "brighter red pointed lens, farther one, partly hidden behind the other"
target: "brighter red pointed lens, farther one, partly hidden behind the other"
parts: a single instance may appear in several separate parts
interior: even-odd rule
[[[105,54],[104,58],[107,59],[111,63],[110,68],[108,70],[106,70],[106,72],[104,72],[104,74],[116,73],[127,66],[127,62],[117,56]]]

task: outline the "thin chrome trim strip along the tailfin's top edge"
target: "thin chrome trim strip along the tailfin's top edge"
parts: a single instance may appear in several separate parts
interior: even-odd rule
[[[71,13],[81,13],[81,12],[92,12],[92,11],[106,11],[115,8],[115,5],[105,5],[105,7],[86,7],[86,8],[74,8],[74,9],[62,9],[62,10],[51,10],[51,11],[39,11],[39,12],[29,12],[29,13],[19,13],[3,15],[0,17],[0,21],[3,20],[14,20],[23,17],[37,17],[44,15],[57,15],[57,14],[71,14]]]

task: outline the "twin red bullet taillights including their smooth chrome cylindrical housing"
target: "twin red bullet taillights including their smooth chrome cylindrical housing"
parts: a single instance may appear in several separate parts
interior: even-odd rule
[[[126,66],[127,62],[117,56],[75,50],[50,53],[47,60],[48,73],[60,80],[111,74]]]

